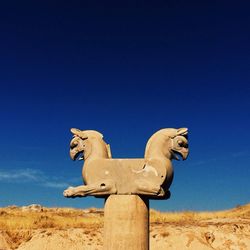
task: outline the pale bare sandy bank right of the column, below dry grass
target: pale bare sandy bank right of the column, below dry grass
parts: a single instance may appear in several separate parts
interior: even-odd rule
[[[151,249],[250,249],[250,221],[210,220],[185,225],[153,225]]]

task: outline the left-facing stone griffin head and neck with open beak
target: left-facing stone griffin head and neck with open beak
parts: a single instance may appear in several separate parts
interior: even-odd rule
[[[72,160],[86,160],[92,153],[100,157],[111,157],[109,146],[103,141],[103,135],[95,130],[71,129],[73,139],[70,142]]]

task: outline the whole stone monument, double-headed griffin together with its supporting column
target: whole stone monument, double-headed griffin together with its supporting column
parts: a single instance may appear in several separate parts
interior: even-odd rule
[[[71,129],[72,160],[84,160],[85,185],[70,187],[65,197],[106,198],[105,250],[149,249],[149,199],[168,199],[172,160],[188,156],[188,130],[161,129],[148,140],[142,159],[113,159],[101,133]]]

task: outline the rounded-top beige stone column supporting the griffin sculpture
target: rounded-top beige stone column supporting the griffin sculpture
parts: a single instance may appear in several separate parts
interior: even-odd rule
[[[149,200],[110,195],[104,206],[105,250],[149,249]]]

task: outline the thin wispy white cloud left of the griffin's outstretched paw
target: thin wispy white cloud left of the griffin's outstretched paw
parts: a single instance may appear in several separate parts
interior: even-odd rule
[[[37,185],[49,188],[67,188],[69,183],[60,178],[51,178],[39,169],[0,169],[0,181],[9,183],[36,183]]]

